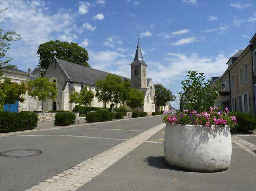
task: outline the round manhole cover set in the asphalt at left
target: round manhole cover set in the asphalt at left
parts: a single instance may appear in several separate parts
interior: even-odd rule
[[[25,156],[40,155],[41,153],[42,152],[38,150],[20,149],[20,150],[4,151],[0,153],[0,156],[19,158],[19,157],[25,157]]]

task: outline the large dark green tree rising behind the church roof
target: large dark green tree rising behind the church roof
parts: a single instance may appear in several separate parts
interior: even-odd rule
[[[74,42],[61,42],[59,40],[45,42],[40,44],[37,50],[39,54],[39,67],[47,69],[54,56],[68,62],[90,67],[87,61],[89,56],[85,48]]]

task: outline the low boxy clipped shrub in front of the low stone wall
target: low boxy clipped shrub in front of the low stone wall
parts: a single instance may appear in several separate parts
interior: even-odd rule
[[[55,119],[54,119],[54,124],[56,126],[69,126],[72,125],[76,122],[76,116],[74,113],[67,113],[67,112],[62,112],[62,113],[56,113]]]

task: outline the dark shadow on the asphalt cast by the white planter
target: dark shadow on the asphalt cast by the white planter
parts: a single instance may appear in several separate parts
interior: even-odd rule
[[[165,162],[165,157],[164,156],[148,156],[147,158],[143,159],[143,161],[146,162],[148,166],[151,166],[151,167],[154,167],[154,168],[187,172],[187,171],[183,171],[183,170],[176,169],[176,168],[168,166]]]

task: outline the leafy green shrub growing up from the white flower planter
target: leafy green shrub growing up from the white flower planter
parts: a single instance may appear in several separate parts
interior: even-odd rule
[[[215,87],[211,88],[210,80],[205,81],[204,73],[196,71],[188,71],[188,80],[182,80],[183,93],[183,108],[189,111],[195,110],[198,112],[209,111],[213,107],[214,100],[219,96],[221,88],[220,82]]]

